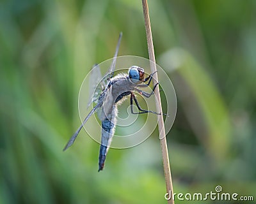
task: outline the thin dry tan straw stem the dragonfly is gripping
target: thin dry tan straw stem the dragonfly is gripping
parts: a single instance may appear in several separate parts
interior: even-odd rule
[[[151,72],[154,73],[155,71],[157,71],[157,69],[156,69],[156,59],[155,59],[155,54],[154,54],[154,45],[153,45],[153,40],[152,40],[147,0],[142,0],[142,7],[143,7],[144,20],[145,20],[145,28],[146,28],[146,33],[147,33],[150,69],[151,69]],[[155,85],[156,82],[158,82],[157,73],[154,75],[154,77],[156,78],[156,80],[154,80],[154,85]],[[160,98],[158,86],[156,87],[156,90],[155,90],[155,96],[156,96],[157,112],[162,113],[161,98]],[[170,164],[169,164],[169,156],[168,156],[168,149],[167,149],[167,143],[166,143],[163,114],[158,116],[158,129],[159,129],[159,138],[160,138],[162,156],[163,156],[166,191],[167,191],[167,193],[170,193],[170,192],[173,193],[172,176],[171,176],[171,170],[170,170]],[[174,203],[173,198],[171,200],[168,200],[168,203]]]

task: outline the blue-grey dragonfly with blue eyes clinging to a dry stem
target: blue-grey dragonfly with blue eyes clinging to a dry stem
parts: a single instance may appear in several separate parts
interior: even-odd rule
[[[103,170],[104,163],[106,161],[106,156],[108,154],[109,147],[111,145],[111,141],[113,139],[113,135],[115,133],[116,126],[116,116],[117,116],[117,106],[121,105],[122,102],[130,96],[131,103],[131,113],[132,114],[141,114],[141,113],[154,113],[157,115],[161,115],[161,113],[157,113],[151,110],[143,110],[138,103],[138,99],[134,92],[138,92],[142,96],[149,98],[154,94],[154,90],[156,89],[158,83],[154,85],[151,92],[146,92],[140,90],[141,87],[148,87],[150,82],[152,81],[153,75],[156,73],[151,73],[145,78],[145,71],[140,66],[131,66],[128,69],[128,73],[118,73],[114,77],[114,71],[116,66],[116,57],[118,55],[118,50],[120,47],[120,41],[122,39],[122,33],[120,33],[118,38],[118,43],[116,45],[115,54],[113,57],[113,61],[111,62],[111,66],[106,73],[104,79],[97,86],[94,87],[93,96],[90,99],[88,105],[90,106],[93,102],[96,105],[92,108],[92,110],[88,113],[88,115],[83,120],[81,126],[77,129],[76,133],[71,136],[70,140],[68,140],[67,145],[63,151],[67,150],[76,140],[77,135],[83,128],[84,124],[87,120],[97,111],[100,110],[99,117],[101,120],[102,133],[101,133],[101,142],[100,142],[100,151],[99,151],[99,170]],[[92,69],[92,75],[96,74],[99,76],[100,69],[96,64]],[[92,77],[91,75],[91,77]],[[105,82],[106,81],[106,82]],[[100,94],[99,94],[100,91]],[[92,92],[92,91],[90,91]],[[133,110],[133,102],[138,107],[138,112],[134,112]],[[164,114],[165,115],[165,114]]]

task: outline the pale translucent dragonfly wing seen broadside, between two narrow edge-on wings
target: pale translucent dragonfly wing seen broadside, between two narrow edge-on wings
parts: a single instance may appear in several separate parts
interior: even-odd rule
[[[105,85],[104,80],[102,80],[99,64],[94,64],[89,80],[89,101],[87,108],[93,102],[97,101]]]

